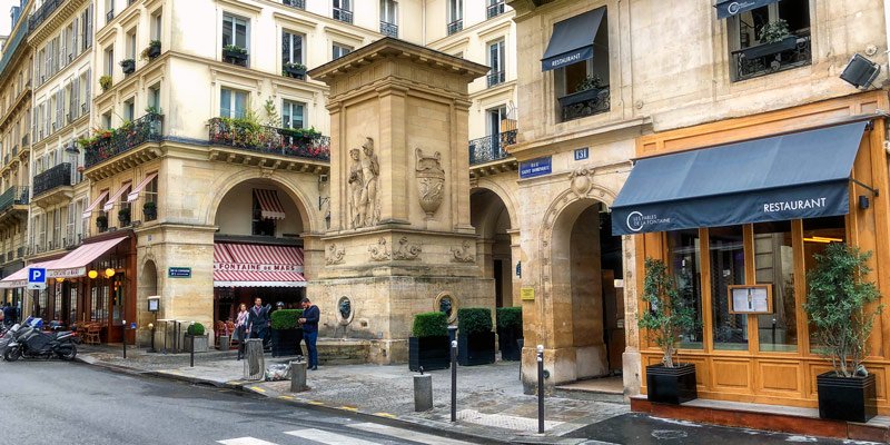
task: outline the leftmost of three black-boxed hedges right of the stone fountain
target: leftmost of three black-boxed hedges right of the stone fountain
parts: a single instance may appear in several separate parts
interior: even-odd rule
[[[447,369],[451,366],[448,317],[439,312],[414,316],[408,337],[408,369]]]

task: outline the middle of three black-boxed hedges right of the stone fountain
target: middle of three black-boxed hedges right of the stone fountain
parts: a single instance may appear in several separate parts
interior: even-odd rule
[[[461,366],[494,363],[494,345],[492,309],[457,309],[457,363]]]

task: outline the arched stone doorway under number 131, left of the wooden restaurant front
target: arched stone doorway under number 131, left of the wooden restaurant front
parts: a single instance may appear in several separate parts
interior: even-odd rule
[[[554,307],[571,308],[563,317],[570,335],[561,336],[556,347],[571,348],[575,356],[574,373],[557,376],[556,384],[614,377],[600,383],[619,392],[623,387],[624,270],[611,216],[605,204],[582,199],[564,209],[553,228]]]

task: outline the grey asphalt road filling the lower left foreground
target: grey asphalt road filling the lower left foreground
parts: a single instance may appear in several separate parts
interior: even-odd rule
[[[463,445],[228,389],[65,362],[0,363],[7,444]]]

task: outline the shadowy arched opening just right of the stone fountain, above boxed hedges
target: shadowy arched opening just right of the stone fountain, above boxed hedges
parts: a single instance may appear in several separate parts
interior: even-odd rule
[[[513,241],[511,218],[506,205],[497,194],[476,189],[469,196],[469,219],[476,228],[476,259],[483,277],[494,279],[495,307],[514,306],[513,298]]]

